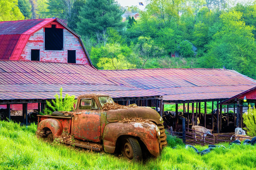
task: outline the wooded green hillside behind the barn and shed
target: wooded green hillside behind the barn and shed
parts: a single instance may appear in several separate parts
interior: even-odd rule
[[[256,2],[146,2],[140,11],[115,0],[0,0],[0,21],[56,17],[82,37],[98,69],[225,66],[256,78]],[[139,19],[122,22],[134,12]]]

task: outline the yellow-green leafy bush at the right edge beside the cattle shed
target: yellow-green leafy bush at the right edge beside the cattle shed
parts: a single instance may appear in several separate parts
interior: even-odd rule
[[[249,105],[249,109],[247,113],[243,114],[243,122],[246,127],[249,129],[247,134],[249,136],[256,136],[256,109],[253,107],[251,109],[251,105]]]

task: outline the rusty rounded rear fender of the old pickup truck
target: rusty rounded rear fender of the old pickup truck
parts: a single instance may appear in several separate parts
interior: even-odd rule
[[[37,131],[40,133],[44,128],[49,128],[52,132],[53,139],[59,137],[63,132],[63,126],[61,122],[57,119],[44,119],[39,122],[37,126]]]

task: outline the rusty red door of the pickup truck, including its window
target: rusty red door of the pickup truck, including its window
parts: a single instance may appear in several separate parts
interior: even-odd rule
[[[80,99],[74,115],[74,137],[100,142],[100,108],[94,98]]]

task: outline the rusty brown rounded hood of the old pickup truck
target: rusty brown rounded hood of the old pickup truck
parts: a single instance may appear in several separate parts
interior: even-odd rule
[[[118,122],[119,120],[123,120],[124,118],[143,118],[148,119],[155,124],[162,124],[163,120],[161,116],[154,109],[150,107],[133,107],[128,109],[115,109],[107,111],[107,121]]]

